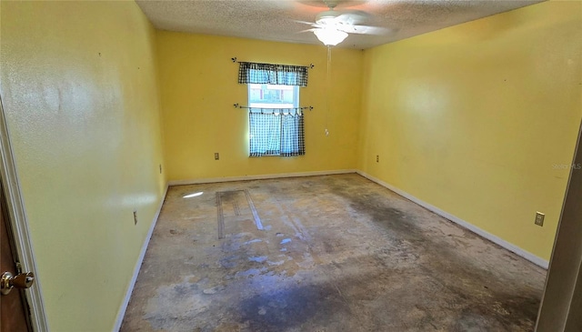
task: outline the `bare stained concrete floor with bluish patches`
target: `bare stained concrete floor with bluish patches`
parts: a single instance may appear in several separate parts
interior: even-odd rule
[[[362,176],[173,186],[121,330],[532,331],[545,276]]]

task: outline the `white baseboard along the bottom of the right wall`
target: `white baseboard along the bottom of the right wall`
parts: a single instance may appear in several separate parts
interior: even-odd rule
[[[478,236],[487,238],[487,240],[497,244],[498,246],[503,246],[507,250],[509,250],[513,253],[516,253],[518,256],[526,258],[528,261],[534,263],[538,267],[543,267],[543,268],[547,269],[547,267],[549,265],[549,262],[547,260],[540,258],[540,257],[537,257],[536,255],[534,255],[530,252],[527,252],[526,250],[524,250],[518,246],[515,246],[515,245],[507,242],[506,240],[504,240],[498,236],[494,236],[493,234],[488,233],[487,231],[484,231],[483,229],[481,229],[475,225],[467,223],[467,221],[465,221],[461,218],[458,218],[457,216],[453,216],[453,215],[441,210],[437,206],[432,206],[432,205],[416,198],[415,196],[412,196],[412,195],[406,193],[405,191],[396,188],[396,186],[389,185],[386,182],[384,182],[384,181],[382,181],[374,176],[370,176],[370,175],[368,175],[365,172],[362,172],[360,170],[357,170],[356,173],[359,174],[360,176],[366,177],[367,179],[369,179],[371,181],[376,182],[376,184],[378,184],[380,186],[385,186],[387,189],[394,191],[396,194],[413,201],[414,203],[416,203],[419,206],[425,207],[426,209],[436,213],[439,216],[443,216],[443,217],[447,218],[448,220],[454,222],[455,224],[457,224],[459,226],[463,226],[464,228],[467,228],[468,230],[477,234]]]

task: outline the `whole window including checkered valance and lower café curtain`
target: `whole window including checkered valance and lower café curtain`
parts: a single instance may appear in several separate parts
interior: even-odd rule
[[[238,83],[248,85],[250,156],[305,155],[299,86],[307,67],[240,62]]]

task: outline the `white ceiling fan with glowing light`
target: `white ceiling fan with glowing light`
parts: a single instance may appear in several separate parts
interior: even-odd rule
[[[369,34],[383,35],[388,29],[377,26],[359,25],[365,22],[370,16],[360,10],[335,10],[339,0],[323,0],[329,10],[316,15],[316,22],[303,22],[313,26],[311,29],[302,32],[311,31],[317,39],[327,46],[335,46],[346,39],[348,34]]]

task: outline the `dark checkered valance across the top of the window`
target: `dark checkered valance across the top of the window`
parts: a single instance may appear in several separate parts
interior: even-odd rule
[[[307,69],[303,65],[271,65],[239,62],[239,84],[307,86]]]

